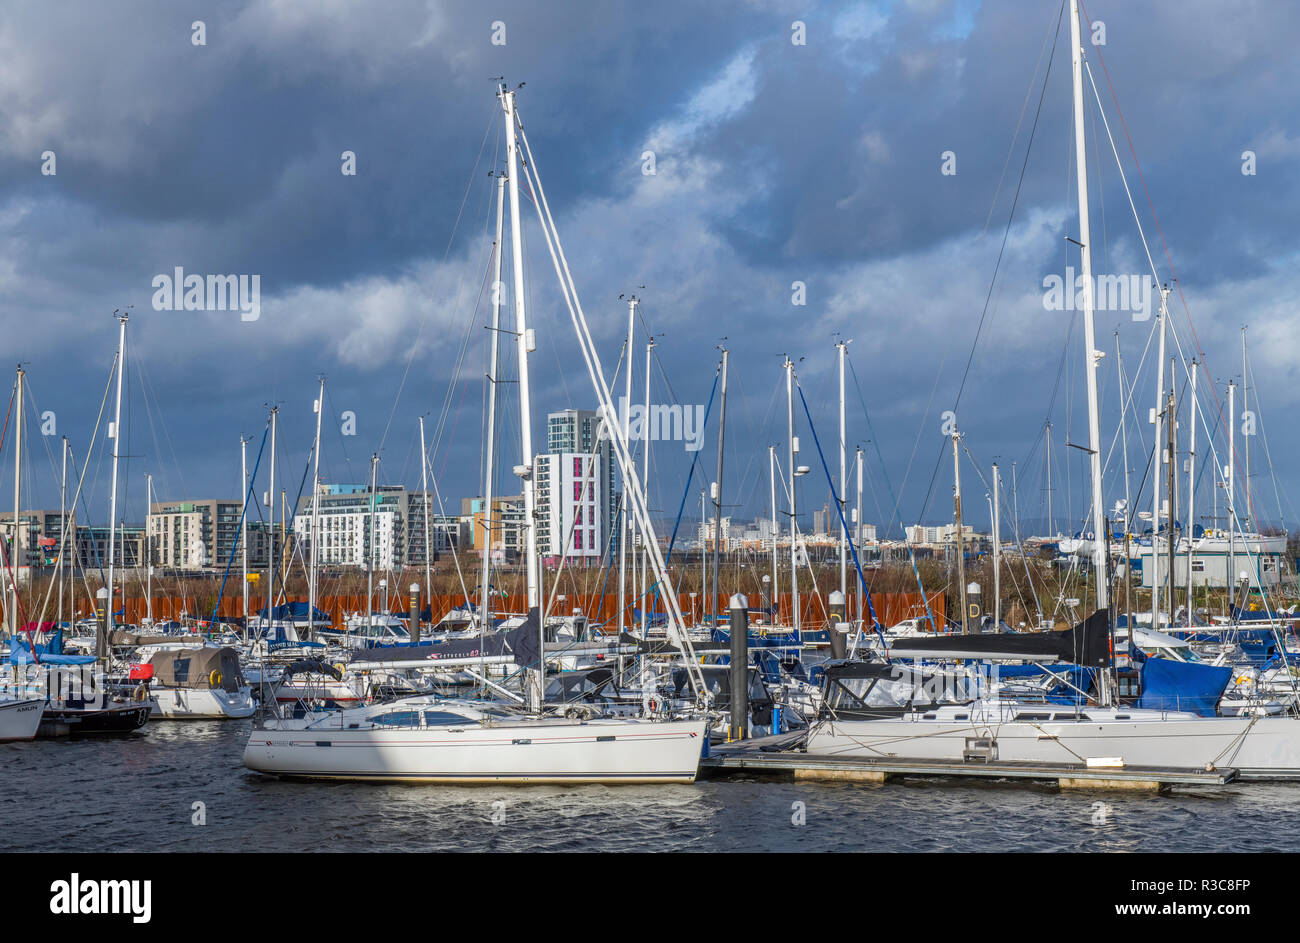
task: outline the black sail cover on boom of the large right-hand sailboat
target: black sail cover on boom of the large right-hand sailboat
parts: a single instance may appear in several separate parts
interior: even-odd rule
[[[994,661],[1070,662],[1083,667],[1110,665],[1110,620],[1098,609],[1063,632],[991,632],[900,639],[894,658],[991,658]]]

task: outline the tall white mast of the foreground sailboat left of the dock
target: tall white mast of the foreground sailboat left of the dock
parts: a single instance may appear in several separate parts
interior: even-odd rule
[[[500,105],[506,117],[506,173],[510,183],[510,261],[515,284],[515,332],[519,345],[519,433],[520,466],[524,481],[524,561],[528,614],[537,619],[537,672],[530,676],[529,706],[540,710],[546,678],[546,631],[541,613],[541,570],[537,559],[537,492],[533,468],[533,403],[528,382],[528,355],[534,343],[528,329],[524,303],[524,237],[519,215],[519,142],[515,120],[515,92],[500,86]]]

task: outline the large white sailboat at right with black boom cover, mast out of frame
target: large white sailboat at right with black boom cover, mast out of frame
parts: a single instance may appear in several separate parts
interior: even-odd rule
[[[1091,453],[1091,525],[1105,533],[1101,502],[1101,451],[1097,399],[1097,352],[1093,330],[1093,280],[1088,226],[1088,174],[1083,120],[1083,46],[1079,4],[1070,0],[1070,44],[1074,66],[1074,130],[1078,165],[1079,242],[1082,256],[1084,356]],[[1231,414],[1231,407],[1230,407]],[[1231,459],[1230,459],[1231,466]],[[1230,479],[1231,486],[1231,479]],[[1231,498],[1230,498],[1231,499]],[[1106,542],[1089,546],[1097,587],[1097,613],[1076,631],[1092,633],[1076,663],[1096,669],[1097,700],[1083,706],[1000,697],[996,691],[935,696],[936,675],[918,675],[901,665],[844,663],[827,669],[822,715],[809,732],[809,753],[863,758],[971,760],[1079,764],[1144,767],[1235,767],[1243,779],[1300,779],[1300,718],[1201,717],[1195,713],[1118,706],[1106,641],[1109,576]],[[1154,607],[1154,606],[1153,606]],[[1104,633],[1104,635],[1102,635]],[[1065,633],[1053,633],[1065,636]],[[1011,644],[988,636],[983,643],[950,640],[898,641],[904,657],[1023,659],[1026,640]],[[1100,650],[1097,641],[1100,640]],[[1050,644],[1049,637],[1039,641]],[[1006,648],[1002,653],[992,649]],[[1032,658],[1031,658],[1032,661]],[[940,685],[942,687],[942,685]]]

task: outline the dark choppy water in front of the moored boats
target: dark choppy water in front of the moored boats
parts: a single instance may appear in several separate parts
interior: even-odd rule
[[[1283,784],[1128,796],[936,782],[286,783],[240,764],[250,726],[0,744],[0,851],[1219,852],[1291,851],[1282,836],[1300,830],[1300,786]]]

